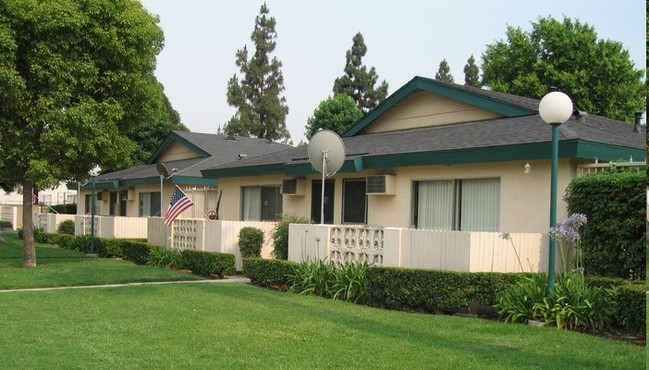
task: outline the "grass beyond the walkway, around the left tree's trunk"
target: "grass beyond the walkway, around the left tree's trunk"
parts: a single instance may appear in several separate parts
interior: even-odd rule
[[[120,259],[86,257],[54,245],[36,245],[37,268],[23,268],[23,245],[16,233],[0,237],[0,289],[105,285],[129,282],[199,280],[186,272],[138,266]]]

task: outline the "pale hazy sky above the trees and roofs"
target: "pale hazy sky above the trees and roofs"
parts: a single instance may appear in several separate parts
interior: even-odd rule
[[[156,76],[193,132],[214,133],[235,113],[226,101],[227,81],[238,68],[238,49],[254,46],[250,34],[261,0],[141,0],[160,17],[165,47]],[[507,26],[531,30],[531,22],[551,16],[578,19],[600,39],[620,41],[636,68],[644,69],[645,2],[640,0],[267,0],[277,25],[273,56],[283,64],[294,144],[304,139],[313,110],[332,94],[343,75],[345,53],[361,32],[368,51],[363,62],[375,67],[391,94],[414,76],[433,78],[446,59],[456,83],[464,65],[476,63],[487,44],[505,39]]]

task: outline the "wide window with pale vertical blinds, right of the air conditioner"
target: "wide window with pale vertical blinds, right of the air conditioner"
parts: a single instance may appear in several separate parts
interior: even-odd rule
[[[499,231],[500,179],[417,181],[413,208],[419,229]]]

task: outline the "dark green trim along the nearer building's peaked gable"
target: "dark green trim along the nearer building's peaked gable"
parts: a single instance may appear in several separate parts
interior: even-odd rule
[[[452,85],[441,83],[439,81],[416,76],[407,84],[403,85],[399,90],[395,91],[392,95],[387,97],[376,108],[367,113],[356,124],[354,124],[354,126],[343,133],[342,136],[350,137],[356,135],[383,113],[390,110],[397,103],[403,100],[406,96],[417,90],[427,91],[433,94],[445,96],[453,100],[475,105],[477,107],[502,114],[506,117],[529,116],[538,113],[537,111],[532,109],[491,99],[489,97],[478,95],[467,90],[462,90]]]

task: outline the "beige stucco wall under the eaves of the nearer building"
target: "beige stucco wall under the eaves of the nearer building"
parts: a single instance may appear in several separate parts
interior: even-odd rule
[[[337,174],[334,177],[334,223],[342,223],[343,180],[368,175],[395,175],[395,195],[368,196],[367,224],[384,227],[411,227],[413,181],[500,178],[500,231],[545,233],[549,224],[550,169],[548,161],[530,161],[531,173],[524,173],[526,162],[494,164],[440,165],[396,168],[386,171],[364,171]],[[562,160],[559,165],[557,218],[567,216],[563,195],[576,173],[577,163]],[[241,186],[278,185],[284,176],[259,176],[221,179],[223,190],[220,218],[239,220]],[[311,184],[320,175],[306,176],[304,196],[283,196],[283,212],[311,216]]]

